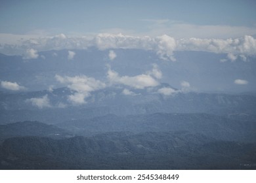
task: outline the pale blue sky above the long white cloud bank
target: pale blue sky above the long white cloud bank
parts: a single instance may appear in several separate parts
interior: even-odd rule
[[[0,33],[84,35],[127,33],[186,37],[184,29],[233,27],[255,33],[256,1],[1,1]],[[189,25],[189,26],[188,26]],[[209,27],[211,29],[213,27]],[[195,32],[198,29],[194,30]],[[177,31],[181,31],[177,35]],[[204,30],[207,31],[207,30]],[[192,30],[193,32],[193,30]],[[226,37],[213,35],[213,37]],[[200,35],[200,34],[199,34]],[[234,35],[236,37],[237,35]],[[191,35],[193,36],[193,35]],[[196,34],[195,34],[196,36]],[[210,35],[205,35],[210,37]],[[231,35],[232,37],[232,35]]]

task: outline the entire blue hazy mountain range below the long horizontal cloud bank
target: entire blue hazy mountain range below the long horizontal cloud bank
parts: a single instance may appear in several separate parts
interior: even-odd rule
[[[255,169],[255,58],[0,54],[0,169]]]

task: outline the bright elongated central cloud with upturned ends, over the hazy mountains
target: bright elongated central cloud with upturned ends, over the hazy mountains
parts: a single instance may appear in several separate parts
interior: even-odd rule
[[[146,74],[136,75],[136,76],[119,76],[116,71],[108,69],[108,80],[111,84],[123,84],[125,86],[130,86],[136,89],[144,89],[146,87],[158,86],[159,82],[156,77],[160,78],[160,71],[156,70],[156,65],[152,71],[146,72]],[[155,70],[154,70],[155,69]]]

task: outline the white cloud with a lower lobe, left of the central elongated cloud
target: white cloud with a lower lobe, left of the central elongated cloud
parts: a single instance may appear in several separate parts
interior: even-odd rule
[[[75,92],[68,96],[68,100],[74,105],[85,104],[85,99],[91,95],[90,92],[106,87],[106,84],[100,80],[84,75],[74,77],[56,75],[55,78],[58,82],[66,84],[70,90]]]

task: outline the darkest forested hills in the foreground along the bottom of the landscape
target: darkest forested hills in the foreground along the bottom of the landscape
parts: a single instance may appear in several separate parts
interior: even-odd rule
[[[200,134],[107,133],[3,142],[1,169],[255,169],[256,144]]]

